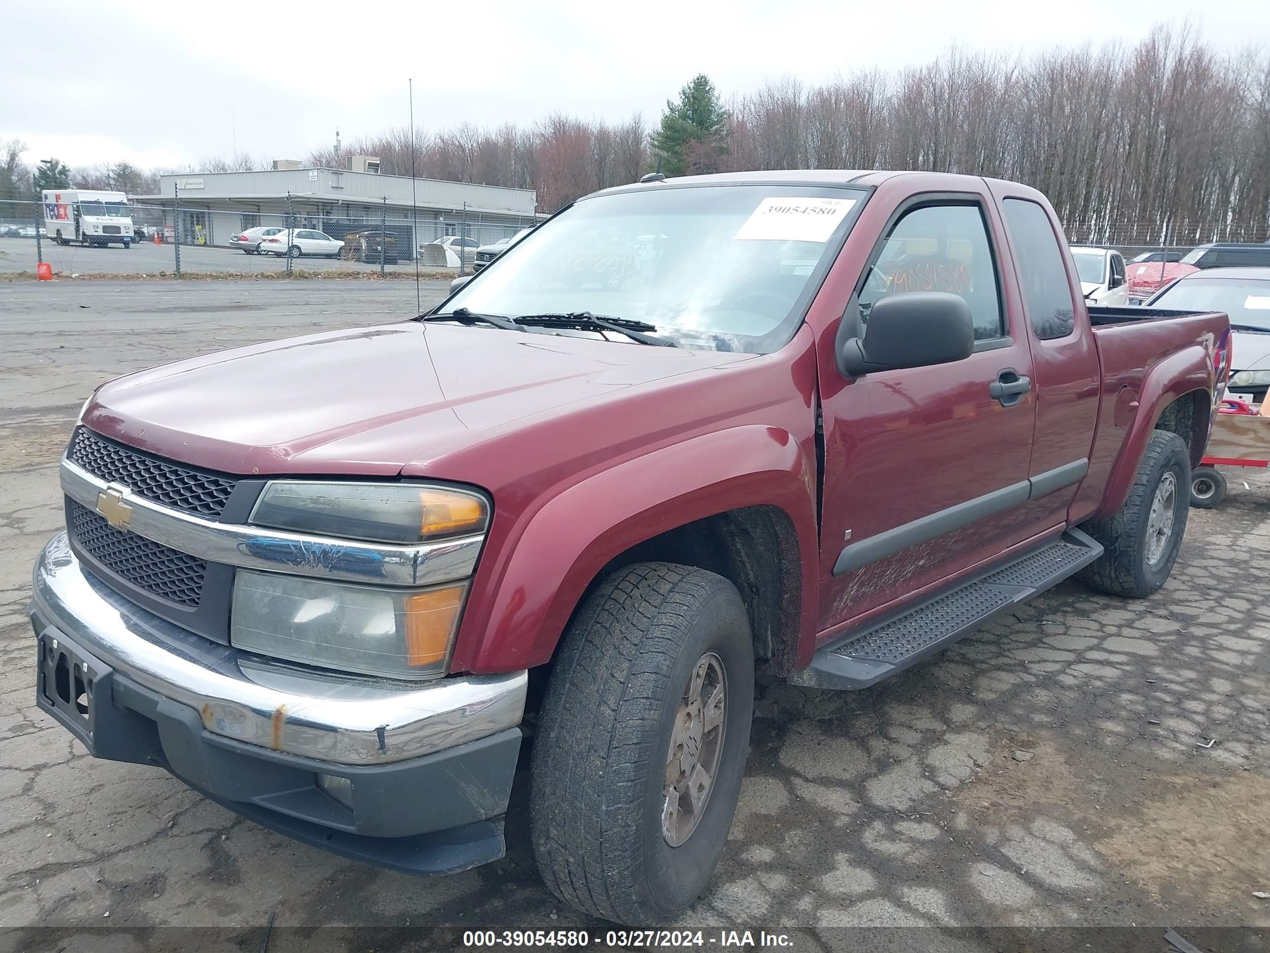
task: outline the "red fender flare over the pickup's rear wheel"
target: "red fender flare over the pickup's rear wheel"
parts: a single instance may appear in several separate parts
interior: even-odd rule
[[[1208,352],[1199,344],[1175,351],[1147,371],[1138,391],[1138,413],[1133,418],[1129,435],[1111,466],[1102,503],[1091,518],[1110,516],[1124,506],[1138,473],[1138,463],[1147,450],[1147,441],[1151,440],[1151,433],[1156,429],[1165,408],[1196,391],[1201,391],[1210,400],[1213,381],[1213,362]],[[1196,446],[1195,436],[1191,437],[1193,464],[1204,452],[1203,445],[1208,441],[1208,419],[1204,421],[1203,433],[1198,435],[1199,446]]]

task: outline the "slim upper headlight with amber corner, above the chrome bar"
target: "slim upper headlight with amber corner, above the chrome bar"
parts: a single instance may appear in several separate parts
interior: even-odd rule
[[[409,483],[273,480],[251,512],[258,526],[378,543],[465,536],[488,520],[478,493]]]

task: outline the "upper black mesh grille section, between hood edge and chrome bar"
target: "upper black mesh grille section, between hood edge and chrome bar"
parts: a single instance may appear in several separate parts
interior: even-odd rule
[[[218,520],[235,480],[141,454],[79,427],[66,451],[94,476],[122,483],[138,497],[187,513]]]

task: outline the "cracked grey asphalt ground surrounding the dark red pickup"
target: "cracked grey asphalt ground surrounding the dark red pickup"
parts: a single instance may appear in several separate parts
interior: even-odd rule
[[[499,863],[385,873],[95,761],[34,706],[29,568],[60,529],[56,461],[93,386],[413,313],[410,282],[0,285],[0,942],[438,949],[475,928],[607,929],[542,888],[519,817]],[[876,689],[763,685],[732,845],[683,925],[706,947],[766,929],[799,950],[1160,950],[1165,925],[1204,950],[1266,948],[1270,479],[1251,473],[1191,511],[1151,598],[1064,583]]]

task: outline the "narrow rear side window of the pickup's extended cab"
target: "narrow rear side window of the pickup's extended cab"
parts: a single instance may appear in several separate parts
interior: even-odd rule
[[[1063,267],[1063,252],[1049,216],[1039,205],[1025,198],[1007,198],[1001,207],[1015,248],[1033,330],[1041,341],[1066,338],[1076,328],[1076,310],[1067,268]]]

